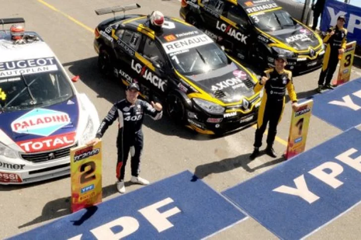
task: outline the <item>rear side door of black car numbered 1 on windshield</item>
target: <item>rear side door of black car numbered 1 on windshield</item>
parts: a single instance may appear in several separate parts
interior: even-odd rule
[[[116,32],[118,40],[115,44],[118,61],[116,68],[116,76],[127,84],[133,82],[133,78],[137,74],[132,71],[131,63],[136,58],[135,53],[138,50],[142,35],[130,29],[119,29]]]

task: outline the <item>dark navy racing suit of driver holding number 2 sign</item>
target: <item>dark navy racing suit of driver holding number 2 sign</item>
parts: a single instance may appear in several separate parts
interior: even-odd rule
[[[140,173],[140,156],[143,150],[142,124],[145,114],[151,116],[154,120],[159,120],[162,118],[163,111],[157,111],[151,104],[141,99],[137,99],[134,105],[126,99],[120,100],[110,109],[97,131],[96,137],[103,137],[108,127],[118,118],[116,176],[119,181],[124,180],[129,150],[131,155],[131,175],[138,177]]]

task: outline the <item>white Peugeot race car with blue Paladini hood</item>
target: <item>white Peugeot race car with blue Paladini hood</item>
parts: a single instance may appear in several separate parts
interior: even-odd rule
[[[68,175],[70,148],[95,137],[97,110],[24,18],[0,23],[12,24],[0,31],[0,184]]]

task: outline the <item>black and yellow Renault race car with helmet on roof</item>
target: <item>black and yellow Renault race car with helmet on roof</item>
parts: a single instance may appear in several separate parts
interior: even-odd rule
[[[256,75],[181,19],[159,11],[109,18],[95,28],[94,48],[104,74],[138,83],[144,99],[160,101],[173,120],[198,133],[222,135],[256,121]]]

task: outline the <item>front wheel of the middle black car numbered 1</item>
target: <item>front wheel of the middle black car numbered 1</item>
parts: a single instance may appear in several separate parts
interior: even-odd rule
[[[185,107],[181,97],[176,93],[167,96],[167,113],[169,117],[178,124],[185,121]]]

